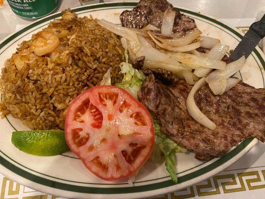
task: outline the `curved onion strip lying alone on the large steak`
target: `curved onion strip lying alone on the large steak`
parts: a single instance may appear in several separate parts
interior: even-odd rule
[[[194,100],[194,94],[205,85],[205,78],[201,78],[191,89],[186,100],[186,107],[189,115],[201,125],[214,130],[216,128],[208,117],[206,117],[198,108]]]

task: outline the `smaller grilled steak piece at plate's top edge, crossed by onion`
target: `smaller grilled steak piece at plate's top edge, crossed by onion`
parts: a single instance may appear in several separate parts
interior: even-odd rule
[[[132,10],[124,10],[120,14],[122,26],[143,28],[152,24],[161,28],[164,12],[175,9],[167,0],[140,0]],[[196,27],[193,19],[176,10],[173,33],[186,32]]]

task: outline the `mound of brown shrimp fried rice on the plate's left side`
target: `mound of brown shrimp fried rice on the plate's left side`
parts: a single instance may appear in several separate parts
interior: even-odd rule
[[[0,78],[1,117],[11,114],[31,129],[64,129],[71,100],[99,85],[112,67],[122,80],[119,38],[91,17],[62,12],[47,28],[23,41],[7,59]]]

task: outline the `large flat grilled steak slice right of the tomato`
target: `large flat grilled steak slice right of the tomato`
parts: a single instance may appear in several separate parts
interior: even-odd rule
[[[198,160],[224,155],[246,138],[265,141],[265,89],[239,83],[227,93],[214,96],[204,86],[195,96],[199,109],[216,125],[210,130],[191,118],[186,99],[192,86],[179,80],[165,86],[150,74],[138,92],[139,101],[153,111],[162,130],[180,146],[195,153]]]

